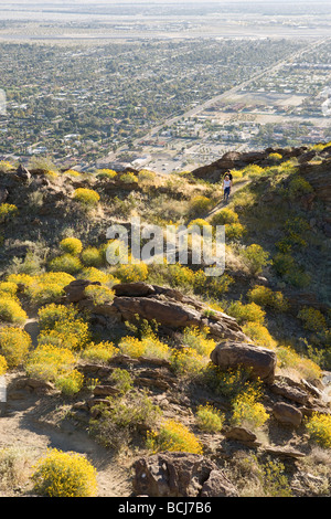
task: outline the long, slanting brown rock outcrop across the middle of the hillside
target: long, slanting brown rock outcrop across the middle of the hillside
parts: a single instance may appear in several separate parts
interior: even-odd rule
[[[85,288],[89,282],[77,279],[64,290],[64,301],[78,303],[95,315],[106,316],[118,321],[134,322],[140,319],[157,321],[166,331],[173,332],[189,326],[207,327],[210,336],[217,340],[247,340],[237,321],[222,311],[213,310],[211,317],[205,315],[207,306],[197,299],[188,297],[173,288],[166,288],[146,283],[125,283],[115,285],[115,298],[111,303],[94,305],[86,296]]]

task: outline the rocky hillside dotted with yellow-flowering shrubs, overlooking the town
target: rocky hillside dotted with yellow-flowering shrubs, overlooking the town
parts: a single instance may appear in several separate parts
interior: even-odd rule
[[[330,496],[330,155],[173,176],[0,163],[2,495],[36,495],[51,446],[85,453],[100,496]],[[225,273],[109,265],[107,227],[137,215],[224,224]]]

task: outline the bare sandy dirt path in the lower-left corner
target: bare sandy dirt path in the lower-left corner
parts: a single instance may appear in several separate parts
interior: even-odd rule
[[[38,396],[26,391],[11,390],[11,382],[19,377],[8,377],[8,401],[1,403],[0,449],[14,447],[22,455],[28,455],[31,474],[32,465],[49,448],[83,454],[97,470],[98,497],[127,497],[131,494],[130,459],[115,458],[114,454],[97,444],[84,430],[66,420],[66,409],[56,398]],[[21,491],[14,495],[26,495],[31,481],[25,477]],[[10,492],[10,489],[8,490]],[[1,490],[0,496],[7,496]]]

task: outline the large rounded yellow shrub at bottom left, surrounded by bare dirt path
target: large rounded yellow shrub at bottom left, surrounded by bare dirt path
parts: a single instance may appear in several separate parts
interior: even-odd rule
[[[46,497],[95,497],[97,472],[78,453],[51,449],[33,467],[34,491]]]

